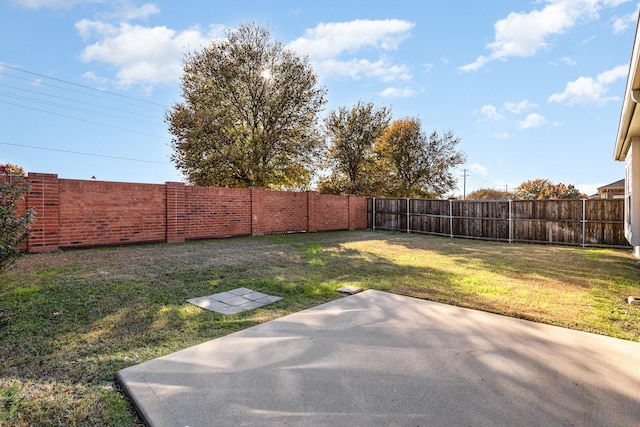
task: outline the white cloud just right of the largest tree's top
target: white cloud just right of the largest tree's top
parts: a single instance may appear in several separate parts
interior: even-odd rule
[[[390,63],[384,54],[398,49],[413,27],[412,22],[399,19],[321,23],[287,47],[308,55],[324,78],[408,80],[412,77],[409,68]]]

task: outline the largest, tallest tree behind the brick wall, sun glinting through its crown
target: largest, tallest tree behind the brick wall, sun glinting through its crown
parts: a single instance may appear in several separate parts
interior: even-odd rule
[[[172,160],[189,182],[304,188],[322,147],[326,90],[306,57],[255,24],[189,54],[182,101],[166,114]]]

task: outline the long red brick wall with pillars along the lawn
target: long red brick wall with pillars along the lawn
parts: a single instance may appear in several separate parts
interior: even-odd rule
[[[367,200],[309,192],[58,179],[29,173],[29,252],[367,227]]]

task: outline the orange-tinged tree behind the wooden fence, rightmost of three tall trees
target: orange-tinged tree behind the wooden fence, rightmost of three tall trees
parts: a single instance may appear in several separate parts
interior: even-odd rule
[[[389,197],[442,197],[455,189],[453,171],[465,161],[452,132],[427,135],[417,117],[395,120],[376,142]]]

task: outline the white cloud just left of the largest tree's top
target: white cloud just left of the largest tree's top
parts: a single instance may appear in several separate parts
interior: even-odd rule
[[[97,39],[83,49],[82,60],[115,67],[122,86],[176,81],[184,52],[207,45],[213,36],[198,28],[177,32],[164,26],[114,26],[86,19],[76,23],[76,29],[85,38]]]

